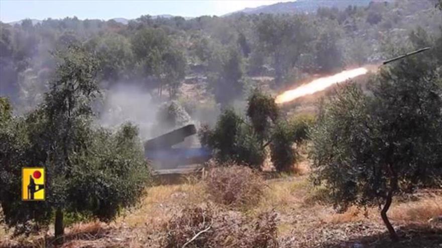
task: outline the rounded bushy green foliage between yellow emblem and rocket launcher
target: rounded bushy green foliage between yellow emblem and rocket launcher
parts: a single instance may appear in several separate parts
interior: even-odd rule
[[[122,207],[137,202],[150,175],[138,128],[131,123],[116,133],[94,130],[87,150],[72,160],[69,197],[75,201],[69,210],[102,220],[112,220]]]

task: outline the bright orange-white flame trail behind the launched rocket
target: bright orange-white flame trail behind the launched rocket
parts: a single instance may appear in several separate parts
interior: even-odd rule
[[[342,71],[332,76],[318,78],[308,84],[301,85],[296,89],[285,91],[284,93],[276,97],[275,102],[277,104],[290,102],[298,97],[313,94],[315,92],[324,90],[336,83],[341,83],[351,78],[364,75],[367,72],[368,70],[366,68],[360,67],[353,70]]]

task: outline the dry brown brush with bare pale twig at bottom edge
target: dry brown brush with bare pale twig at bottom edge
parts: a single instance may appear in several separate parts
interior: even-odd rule
[[[256,219],[222,211],[212,205],[191,206],[165,225],[161,247],[276,248],[277,214],[263,212]]]

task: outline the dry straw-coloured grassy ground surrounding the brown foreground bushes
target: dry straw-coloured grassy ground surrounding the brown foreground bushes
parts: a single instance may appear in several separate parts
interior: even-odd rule
[[[379,209],[351,207],[337,213],[317,199],[306,174],[279,175],[266,180],[264,197],[258,205],[228,210],[253,218],[273,209],[278,214],[280,247],[442,247],[442,224],[428,219],[442,215],[442,191],[421,190],[412,197],[396,199],[389,217],[401,237],[391,243]],[[210,201],[199,179],[187,177],[175,185],[146,189],[138,207],[129,209],[112,223],[91,221],[66,228],[61,247],[160,247],[167,221],[190,204]],[[0,233],[0,247],[53,247],[52,228],[28,237],[11,238]]]

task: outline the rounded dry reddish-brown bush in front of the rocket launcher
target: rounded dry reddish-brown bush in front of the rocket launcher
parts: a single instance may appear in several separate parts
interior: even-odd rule
[[[263,195],[263,178],[245,166],[214,167],[205,178],[213,201],[233,207],[255,205]]]

